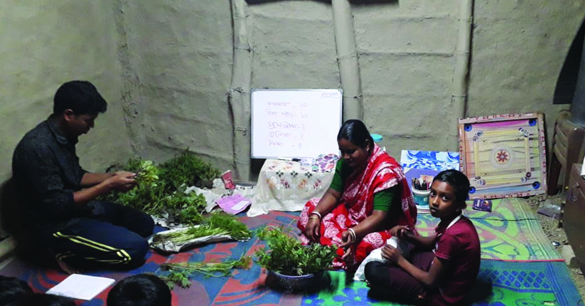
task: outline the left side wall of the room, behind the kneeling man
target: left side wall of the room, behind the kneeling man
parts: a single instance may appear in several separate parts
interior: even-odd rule
[[[0,1],[0,181],[11,176],[20,138],[49,116],[55,91],[70,80],[93,82],[108,101],[95,129],[80,137],[82,166],[103,171],[130,157],[116,13],[91,0]]]

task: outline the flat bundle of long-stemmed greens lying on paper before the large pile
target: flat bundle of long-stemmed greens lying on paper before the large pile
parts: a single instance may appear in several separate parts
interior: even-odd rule
[[[252,232],[234,216],[224,212],[213,212],[201,225],[157,233],[153,236],[152,243],[170,242],[174,245],[184,245],[194,239],[208,236],[229,236],[235,240],[247,240],[252,237]]]

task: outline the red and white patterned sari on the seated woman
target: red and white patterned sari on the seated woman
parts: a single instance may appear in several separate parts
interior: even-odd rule
[[[329,214],[322,216],[320,236],[322,245],[340,245],[341,234],[344,231],[353,228],[371,215],[374,207],[374,193],[378,191],[400,185],[402,209],[400,215],[388,215],[384,231],[369,233],[357,245],[352,246],[353,259],[342,260],[344,251],[341,248],[338,249],[339,257],[333,261],[333,267],[337,269],[346,269],[348,266],[357,267],[372,250],[384,246],[386,240],[392,236],[390,229],[395,225],[407,225],[414,229],[417,223],[417,207],[400,164],[377,145],[374,144],[374,150],[367,160],[367,165],[353,171],[344,185],[339,204]],[[309,243],[309,239],[303,234],[305,226],[319,200],[319,198],[312,198],[308,201],[298,220],[297,226],[301,229],[301,241],[304,244]],[[398,211],[398,209],[392,211]]]

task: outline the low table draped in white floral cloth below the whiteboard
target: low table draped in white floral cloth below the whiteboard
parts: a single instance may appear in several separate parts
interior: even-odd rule
[[[302,210],[311,198],[325,194],[335,174],[335,161],[336,158],[332,161],[333,168],[328,169],[330,172],[322,172],[323,169],[314,171],[315,163],[267,159],[260,170],[247,216]]]

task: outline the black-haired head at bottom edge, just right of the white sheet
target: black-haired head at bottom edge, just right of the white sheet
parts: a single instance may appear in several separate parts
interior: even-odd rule
[[[138,274],[126,277],[108,293],[108,306],[170,306],[171,290],[159,277]]]

